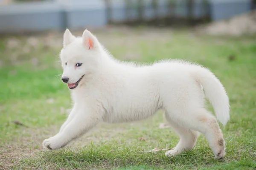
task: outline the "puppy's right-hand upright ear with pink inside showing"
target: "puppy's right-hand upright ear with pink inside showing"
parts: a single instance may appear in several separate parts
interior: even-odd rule
[[[84,30],[82,36],[82,43],[89,50],[95,49],[99,46],[99,41],[97,40],[97,38],[87,29]]]

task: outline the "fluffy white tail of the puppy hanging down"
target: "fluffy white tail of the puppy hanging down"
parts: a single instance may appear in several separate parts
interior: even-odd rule
[[[196,71],[195,78],[203,86],[205,96],[212,104],[217,119],[225,126],[230,119],[230,105],[225,88],[207,68]]]

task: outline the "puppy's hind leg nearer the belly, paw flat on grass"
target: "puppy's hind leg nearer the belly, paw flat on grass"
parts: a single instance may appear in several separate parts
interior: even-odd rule
[[[168,113],[165,113],[165,114],[166,114],[166,119],[171,125],[171,127],[173,128],[173,130],[175,130],[175,132],[180,136],[180,141],[175,146],[175,148],[173,150],[167,151],[165,155],[175,156],[185,151],[192,150],[195,147],[199,133],[197,131],[190,130],[186,127],[182,127],[178,125],[176,122],[172,121],[169,118]]]

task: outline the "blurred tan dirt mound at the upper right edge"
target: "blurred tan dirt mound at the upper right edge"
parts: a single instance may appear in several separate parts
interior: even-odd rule
[[[256,10],[228,20],[216,21],[200,26],[196,30],[209,35],[241,36],[256,34]]]

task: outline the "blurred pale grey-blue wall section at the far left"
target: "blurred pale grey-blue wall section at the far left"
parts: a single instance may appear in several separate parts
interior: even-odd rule
[[[58,3],[0,6],[0,32],[43,31],[63,26]]]

